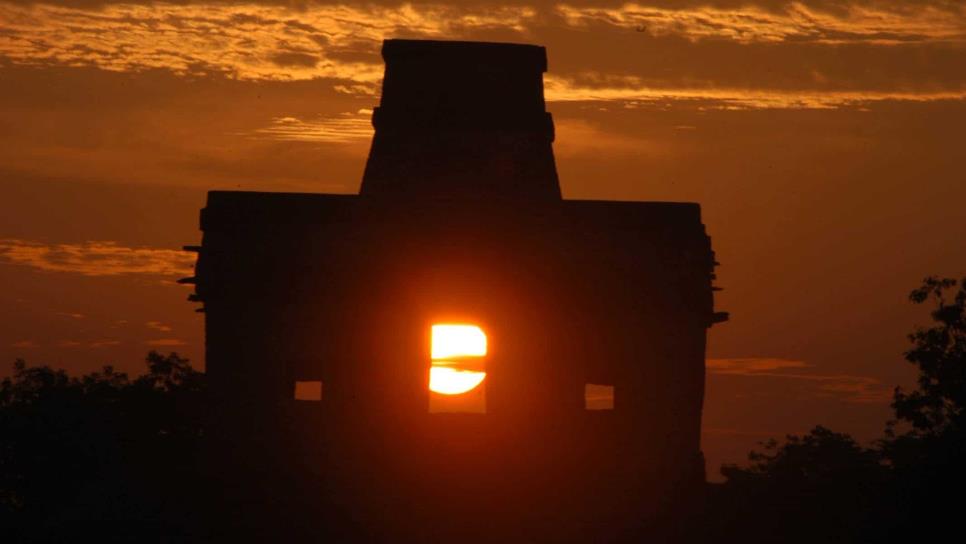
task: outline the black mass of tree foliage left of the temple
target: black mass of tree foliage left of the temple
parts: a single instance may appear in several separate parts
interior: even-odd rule
[[[160,527],[185,515],[164,497],[197,461],[204,375],[176,353],[152,351],[146,363],[133,380],[109,366],[71,378],[14,364],[0,383],[0,526],[8,535],[104,531],[123,539],[124,523]]]

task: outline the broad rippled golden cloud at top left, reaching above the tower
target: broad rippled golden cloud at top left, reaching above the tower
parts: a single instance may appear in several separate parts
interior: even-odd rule
[[[519,32],[535,14],[524,6],[211,2],[79,9],[0,3],[0,56],[19,64],[112,71],[164,68],[187,76],[373,83],[382,78],[382,64],[376,55],[353,60],[360,44],[368,43],[375,53],[387,37],[441,38],[488,28]]]

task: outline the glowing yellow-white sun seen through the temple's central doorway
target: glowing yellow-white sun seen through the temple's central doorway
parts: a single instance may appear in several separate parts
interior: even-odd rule
[[[433,325],[429,390],[460,395],[483,383],[486,372],[459,368],[460,360],[486,355],[486,334],[476,325]],[[469,366],[469,365],[466,365]],[[475,365],[474,365],[475,366]]]

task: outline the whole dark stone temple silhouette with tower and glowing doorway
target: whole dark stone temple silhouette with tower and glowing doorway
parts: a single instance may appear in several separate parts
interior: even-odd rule
[[[699,205],[562,198],[542,47],[382,55],[358,195],[212,191],[202,210],[183,281],[225,500],[366,541],[607,541],[681,519],[705,481],[706,333],[727,319]],[[481,413],[430,410],[437,323],[486,334]]]

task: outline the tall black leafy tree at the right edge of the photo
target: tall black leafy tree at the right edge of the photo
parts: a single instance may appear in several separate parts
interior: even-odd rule
[[[879,448],[892,468],[891,534],[924,541],[962,532],[960,503],[948,498],[966,486],[966,278],[928,277],[909,299],[931,302],[933,323],[909,335],[917,388],[896,388]]]

